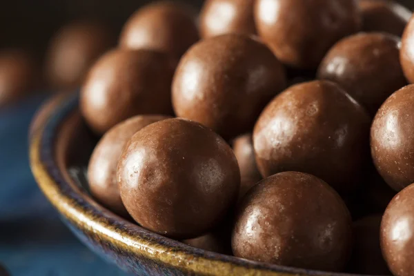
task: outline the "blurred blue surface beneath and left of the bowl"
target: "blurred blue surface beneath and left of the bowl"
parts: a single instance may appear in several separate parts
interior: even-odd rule
[[[0,263],[11,275],[126,275],[83,246],[34,182],[28,126],[44,96],[0,110]]]

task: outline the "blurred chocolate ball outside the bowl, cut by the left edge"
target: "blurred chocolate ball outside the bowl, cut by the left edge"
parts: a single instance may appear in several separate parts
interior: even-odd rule
[[[37,66],[21,50],[0,51],[0,108],[30,95],[39,84]]]

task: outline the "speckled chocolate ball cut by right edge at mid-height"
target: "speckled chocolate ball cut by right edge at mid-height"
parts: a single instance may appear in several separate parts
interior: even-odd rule
[[[400,191],[414,182],[414,85],[406,86],[378,110],[371,127],[371,154],[386,183]]]

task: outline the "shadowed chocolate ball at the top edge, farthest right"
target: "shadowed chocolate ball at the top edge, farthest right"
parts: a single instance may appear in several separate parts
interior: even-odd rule
[[[365,32],[388,32],[402,36],[412,12],[395,1],[359,0],[362,12],[362,30]]]

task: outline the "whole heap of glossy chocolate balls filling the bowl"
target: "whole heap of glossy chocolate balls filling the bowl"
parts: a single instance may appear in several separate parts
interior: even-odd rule
[[[81,86],[92,195],[206,250],[414,275],[410,18],[381,0],[139,9]]]

